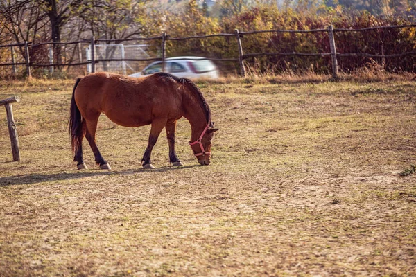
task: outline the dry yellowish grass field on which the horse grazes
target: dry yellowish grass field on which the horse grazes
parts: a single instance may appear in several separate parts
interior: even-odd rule
[[[0,276],[415,276],[416,82],[198,82],[216,134],[199,166],[180,120],[141,168],[149,127],[105,116],[112,170],[76,170],[73,80],[0,82]]]

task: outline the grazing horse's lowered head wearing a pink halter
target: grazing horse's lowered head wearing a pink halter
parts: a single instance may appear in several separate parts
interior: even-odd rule
[[[214,128],[213,126],[214,123],[211,125],[211,127],[207,125],[199,139],[193,143],[189,143],[189,145],[191,145],[193,154],[195,155],[196,159],[198,159],[198,163],[200,163],[202,166],[207,166],[211,162],[211,143],[212,139],[214,138],[214,133],[218,131],[218,128]]]

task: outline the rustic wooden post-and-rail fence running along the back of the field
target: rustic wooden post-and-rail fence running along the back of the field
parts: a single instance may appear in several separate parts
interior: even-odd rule
[[[84,39],[78,42],[67,42],[67,43],[54,43],[54,42],[46,42],[42,44],[31,44],[29,42],[25,42],[24,44],[8,44],[8,45],[0,45],[0,48],[2,47],[10,47],[11,51],[11,60],[10,63],[3,63],[0,64],[0,66],[12,66],[13,72],[16,73],[16,66],[18,65],[24,65],[26,66],[26,76],[31,76],[31,68],[32,67],[49,67],[51,68],[51,71],[53,71],[53,68],[55,66],[79,66],[84,64],[90,64],[91,65],[91,72],[96,71],[96,63],[98,62],[114,62],[114,61],[137,61],[137,62],[151,62],[151,61],[162,61],[162,69],[164,69],[164,62],[166,60],[166,41],[172,40],[172,41],[181,41],[181,40],[188,40],[188,39],[207,39],[209,37],[235,37],[237,42],[237,51],[236,53],[239,53],[238,57],[234,58],[209,58],[209,60],[214,61],[231,61],[231,62],[238,62],[239,68],[241,71],[242,76],[247,75],[247,71],[245,70],[245,64],[244,60],[250,58],[250,57],[259,57],[259,56],[305,56],[305,57],[325,57],[329,56],[331,57],[331,73],[334,78],[338,75],[338,57],[368,57],[368,58],[398,58],[398,57],[404,57],[407,55],[416,55],[416,51],[408,51],[404,53],[394,54],[394,55],[374,55],[370,53],[338,53],[336,51],[336,40],[334,37],[334,33],[336,32],[363,32],[366,30],[377,30],[377,29],[392,29],[392,28],[414,28],[416,27],[416,24],[409,24],[409,25],[403,25],[403,26],[379,26],[379,27],[372,27],[372,28],[361,28],[361,29],[345,29],[345,28],[333,28],[333,26],[328,26],[328,28],[323,29],[315,29],[315,30],[257,30],[252,32],[241,32],[239,30],[235,30],[233,34],[231,33],[220,33],[220,34],[214,34],[214,35],[202,35],[202,36],[192,36],[192,37],[169,37],[166,33],[163,33],[161,36],[158,37],[143,37],[138,39],[123,39],[123,40],[107,40],[107,39],[95,39],[92,37],[91,39]],[[329,40],[329,46],[330,46],[330,52],[329,53],[296,53],[296,52],[290,52],[290,53],[275,53],[275,52],[268,52],[268,53],[244,53],[243,48],[243,36],[248,35],[256,35],[260,33],[315,33],[315,32],[324,32],[328,35]],[[161,56],[160,57],[149,57],[149,58],[141,58],[141,59],[97,59],[96,58],[96,51],[95,47],[96,44],[99,42],[106,42],[106,43],[112,43],[112,42],[128,42],[128,41],[151,41],[159,39],[161,40],[162,44],[160,48]],[[87,60],[86,62],[60,62],[55,63],[53,60],[53,54],[50,53],[49,55],[49,64],[37,64],[31,62],[31,57],[29,56],[29,46],[42,46],[42,45],[68,45],[68,44],[89,44],[89,47],[91,49],[91,58]],[[15,62],[15,53],[13,51],[13,48],[19,46],[23,47],[24,51],[21,51],[24,53],[24,61],[25,62]],[[78,47],[80,49],[80,47]],[[80,50],[79,50],[80,51]],[[81,56],[81,53],[79,54]],[[191,59],[188,59],[191,60]]]

